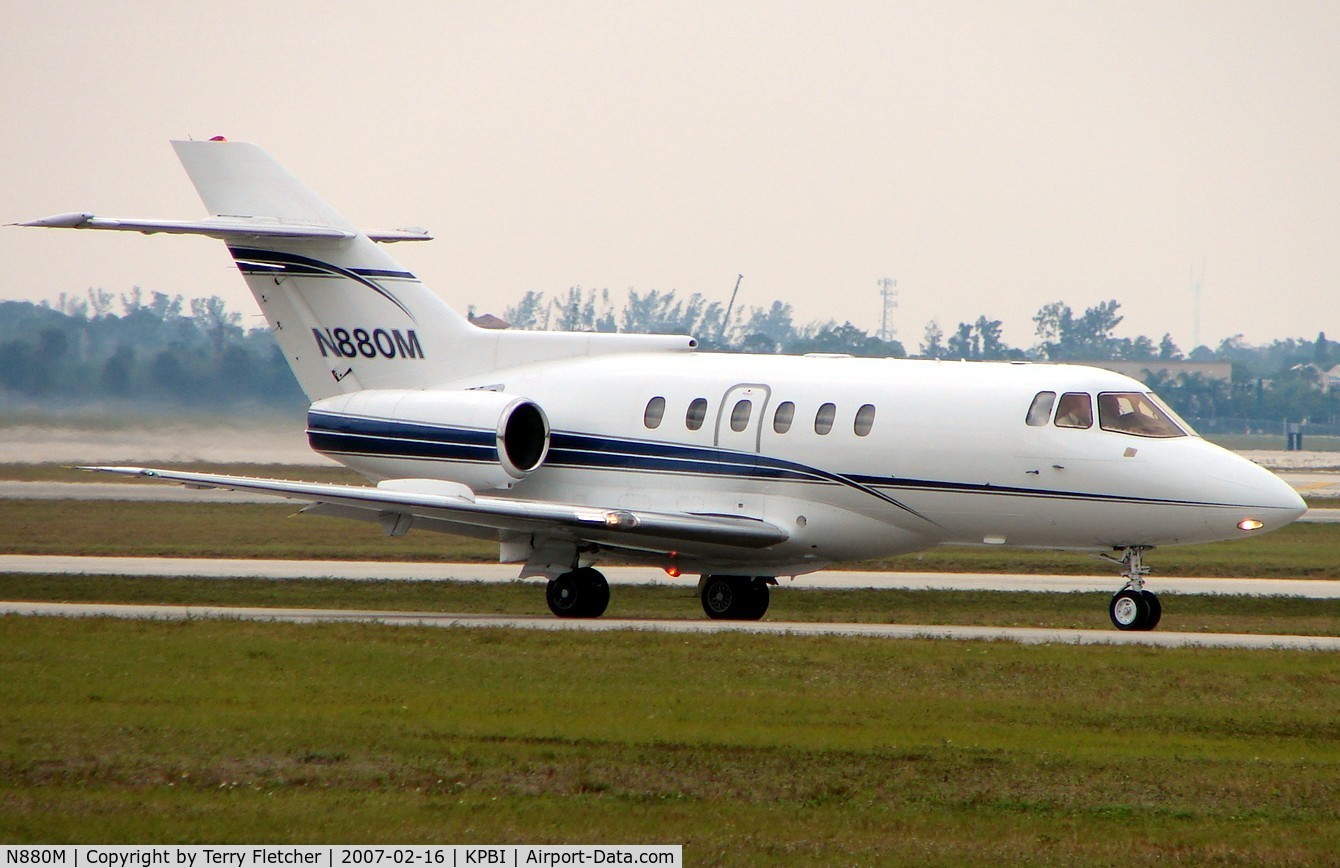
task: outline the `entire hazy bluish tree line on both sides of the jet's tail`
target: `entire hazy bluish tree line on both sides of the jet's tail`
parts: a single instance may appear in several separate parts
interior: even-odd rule
[[[835,320],[797,323],[789,304],[726,309],[699,293],[630,291],[615,304],[608,291],[574,287],[547,299],[527,292],[504,311],[513,328],[689,334],[724,352],[840,352],[906,358],[896,340]],[[1324,388],[1324,371],[1340,364],[1340,344],[1282,339],[1250,346],[1241,335],[1189,354],[1164,334],[1118,338],[1116,300],[1083,312],[1063,301],[1033,316],[1036,343],[1012,347],[1001,320],[980,316],[946,332],[925,328],[917,356],[1037,362],[1150,362],[1147,380],[1202,427],[1240,421],[1311,419],[1340,425],[1340,388]],[[1231,380],[1163,372],[1159,362],[1227,362]],[[8,402],[293,409],[306,405],[268,328],[244,328],[241,313],[218,297],[190,299],[138,288],[113,296],[90,289],[55,303],[0,301],[0,399]],[[1230,422],[1231,421],[1231,422]],[[1250,425],[1250,423],[1242,423]],[[1260,425],[1260,422],[1257,423]]]

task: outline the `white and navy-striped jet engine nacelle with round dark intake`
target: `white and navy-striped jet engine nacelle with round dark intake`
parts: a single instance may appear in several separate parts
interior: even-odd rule
[[[312,449],[377,478],[441,478],[507,489],[549,453],[549,419],[494,391],[364,390],[307,413]]]

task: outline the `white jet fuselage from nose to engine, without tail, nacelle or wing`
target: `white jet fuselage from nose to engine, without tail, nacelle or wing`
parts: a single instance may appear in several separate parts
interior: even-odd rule
[[[1111,549],[1242,538],[1304,512],[1274,474],[1199,437],[1158,439],[1091,429],[1025,425],[1040,391],[1147,391],[1130,378],[1083,366],[724,354],[641,354],[548,362],[496,371],[489,386],[539,403],[556,434],[583,434],[657,449],[726,449],[829,478],[777,478],[697,470],[565,467],[551,463],[507,496],[667,512],[752,516],[792,537],[740,563],[779,573],[827,563],[918,551],[937,544]],[[730,430],[738,387],[754,405],[744,431]],[[733,391],[736,390],[736,391]],[[666,401],[655,429],[647,402]],[[728,401],[729,396],[729,401]],[[706,399],[698,430],[686,426]],[[795,403],[787,433],[773,430]],[[836,406],[828,434],[815,417]],[[872,405],[870,434],[854,431]],[[718,443],[721,443],[718,446]],[[379,474],[421,476],[431,462],[378,465]],[[840,477],[840,478],[839,478]],[[726,553],[710,565],[732,563]]]

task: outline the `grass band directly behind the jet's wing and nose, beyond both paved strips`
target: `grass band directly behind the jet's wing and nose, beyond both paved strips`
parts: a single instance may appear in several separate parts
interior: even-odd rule
[[[496,563],[488,540],[411,532],[375,522],[297,516],[297,505],[0,501],[0,552],[165,557],[289,557]],[[1158,549],[1156,576],[1340,579],[1340,525],[1294,524],[1261,537]],[[842,568],[843,565],[839,565]],[[1073,552],[939,548],[847,564],[855,569],[1095,575],[1116,568]]]

